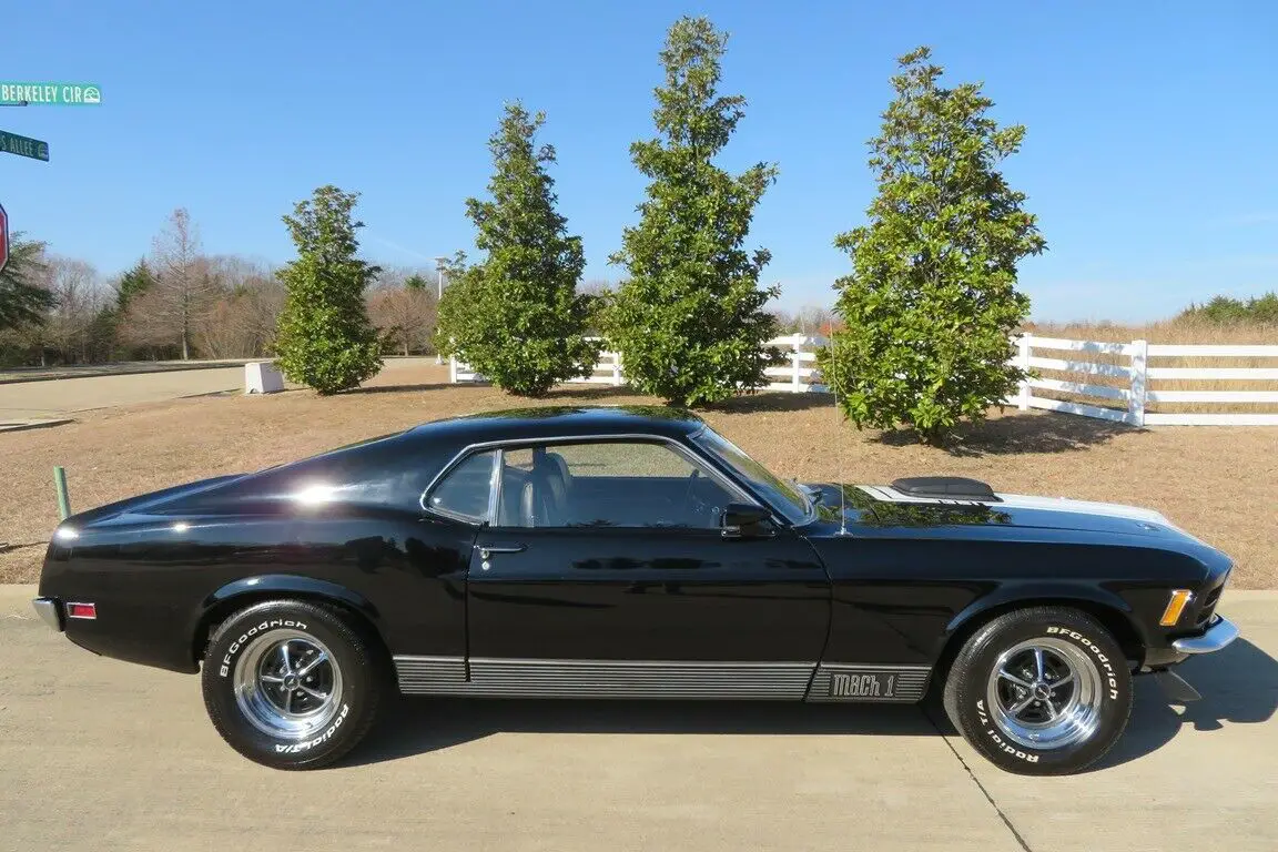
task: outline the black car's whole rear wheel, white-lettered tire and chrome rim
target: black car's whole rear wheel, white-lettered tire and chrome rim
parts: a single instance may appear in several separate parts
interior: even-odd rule
[[[373,723],[383,688],[378,653],[339,609],[304,600],[248,607],[208,643],[208,718],[249,760],[276,769],[326,766]]]

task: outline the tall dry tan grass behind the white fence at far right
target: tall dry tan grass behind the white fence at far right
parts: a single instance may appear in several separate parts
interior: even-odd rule
[[[1145,340],[1150,344],[1217,345],[1217,346],[1278,346],[1278,326],[1259,323],[1240,323],[1222,326],[1192,319],[1169,319],[1148,326],[1116,326],[1112,323],[1030,323],[1025,328],[1040,337],[1065,337],[1068,340],[1091,340],[1098,342],[1130,344]],[[1035,349],[1035,356],[1068,360],[1086,360],[1099,364],[1128,367],[1131,360],[1118,354],[1091,354],[1071,356],[1061,350]],[[1278,355],[1273,358],[1150,358],[1149,367],[1231,367],[1278,368]],[[1039,370],[1043,378],[1102,384],[1105,387],[1127,387],[1125,379],[1108,376],[1089,376],[1086,372]],[[1229,379],[1153,379],[1150,391],[1278,391],[1278,382],[1270,381],[1229,381]],[[1100,400],[1077,393],[1065,393],[1049,390],[1034,390],[1035,396],[1071,402],[1086,402],[1099,407],[1125,409],[1118,400]],[[1278,402],[1150,402],[1146,411],[1166,414],[1176,413],[1219,413],[1219,414],[1278,414]]]

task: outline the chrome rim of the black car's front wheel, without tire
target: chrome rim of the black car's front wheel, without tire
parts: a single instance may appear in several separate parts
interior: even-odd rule
[[[1099,724],[1100,671],[1086,650],[1061,639],[1030,639],[1003,651],[985,694],[998,729],[1029,749],[1071,746]]]

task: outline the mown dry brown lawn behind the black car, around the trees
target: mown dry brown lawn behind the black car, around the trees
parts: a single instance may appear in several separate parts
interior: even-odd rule
[[[55,429],[0,433],[8,479],[0,492],[0,540],[47,540],[58,520],[54,465],[66,468],[73,508],[87,508],[423,420],[528,404],[491,387],[446,381],[446,368],[423,365],[330,399],[307,391],[197,397],[86,413]],[[651,401],[625,388],[573,386],[538,404]],[[1150,506],[1233,556],[1236,585],[1278,586],[1278,429],[1136,430],[1070,415],[1008,413],[966,430],[943,451],[907,436],[858,433],[840,423],[828,396],[815,393],[744,397],[705,418],[785,476],[883,483],[952,474],[1008,492]],[[0,554],[0,581],[35,581],[42,556],[42,545]]]

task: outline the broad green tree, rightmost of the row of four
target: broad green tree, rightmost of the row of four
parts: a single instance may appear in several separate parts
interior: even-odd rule
[[[870,141],[869,224],[835,240],[852,259],[835,284],[846,326],[819,361],[858,428],[911,425],[938,443],[1022,378],[1007,365],[1030,309],[1016,266],[1047,244],[997,170],[1025,128],[999,128],[979,84],[942,88],[930,56],[902,56],[892,78],[896,98]]]

